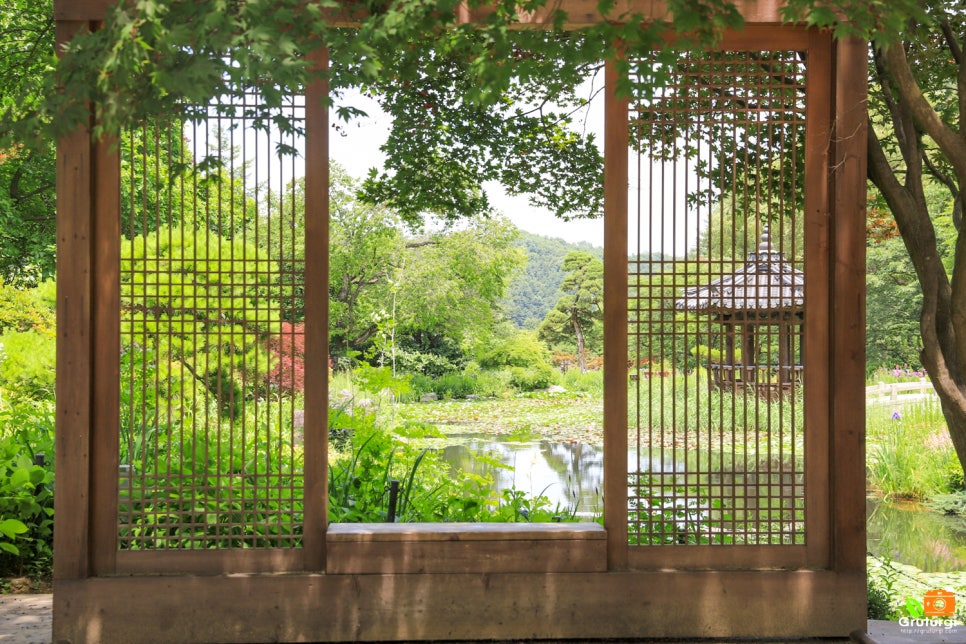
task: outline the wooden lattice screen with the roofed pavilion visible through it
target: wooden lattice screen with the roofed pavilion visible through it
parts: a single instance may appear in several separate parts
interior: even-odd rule
[[[803,544],[804,54],[636,69],[629,542]]]

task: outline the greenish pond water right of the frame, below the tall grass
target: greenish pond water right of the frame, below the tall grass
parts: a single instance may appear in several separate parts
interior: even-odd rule
[[[966,568],[966,521],[914,503],[866,501],[869,550],[924,572]]]

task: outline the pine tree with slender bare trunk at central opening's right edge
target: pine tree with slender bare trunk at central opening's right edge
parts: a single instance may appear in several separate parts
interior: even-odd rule
[[[573,340],[583,373],[587,371],[588,341],[592,346],[601,341],[598,325],[604,319],[604,263],[590,253],[571,251],[564,258],[563,269],[562,295],[537,335],[551,345]]]

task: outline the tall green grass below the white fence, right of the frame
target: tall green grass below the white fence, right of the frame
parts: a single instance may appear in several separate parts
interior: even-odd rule
[[[926,399],[866,412],[869,485],[890,500],[921,500],[963,480],[939,402]]]

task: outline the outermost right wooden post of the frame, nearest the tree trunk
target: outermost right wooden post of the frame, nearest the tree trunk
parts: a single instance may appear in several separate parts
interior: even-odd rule
[[[867,44],[835,44],[832,186],[832,561],[865,572],[865,208]]]

